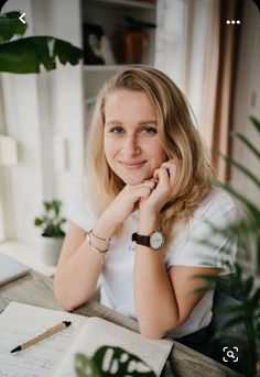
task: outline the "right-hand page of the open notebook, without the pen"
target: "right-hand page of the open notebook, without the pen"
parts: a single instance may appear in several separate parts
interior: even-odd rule
[[[75,354],[91,356],[102,345],[119,346],[143,359],[159,376],[172,348],[172,341],[145,340],[132,331],[99,318],[88,318],[67,355],[63,358],[55,376],[76,376]]]

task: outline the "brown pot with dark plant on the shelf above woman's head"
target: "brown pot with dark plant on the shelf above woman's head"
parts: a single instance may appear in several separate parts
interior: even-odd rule
[[[145,29],[156,27],[154,23],[124,16],[126,23],[116,33],[116,53],[119,63],[141,63],[142,52],[148,44],[149,35]]]

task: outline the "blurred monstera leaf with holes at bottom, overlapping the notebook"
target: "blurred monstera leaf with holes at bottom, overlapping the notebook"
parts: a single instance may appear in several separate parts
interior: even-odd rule
[[[78,377],[155,377],[141,358],[113,346],[98,348],[93,357],[76,354],[75,368]]]

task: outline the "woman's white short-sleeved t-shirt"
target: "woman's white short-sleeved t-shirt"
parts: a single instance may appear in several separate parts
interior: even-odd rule
[[[213,233],[209,223],[216,228],[225,228],[237,219],[237,208],[230,196],[221,189],[213,188],[196,208],[188,224],[178,222],[174,226],[165,252],[166,268],[176,265],[214,266],[224,268],[221,274],[229,273],[225,262],[234,264],[237,244],[223,234]],[[85,231],[94,228],[97,220],[91,207],[84,199],[83,190],[77,190],[66,208],[66,215]],[[137,230],[138,211],[134,211],[124,222],[120,237],[112,239],[100,278],[101,303],[134,319],[137,319],[133,300],[136,243],[131,241],[131,235]],[[215,247],[199,242],[209,239]],[[207,291],[188,319],[167,335],[177,339],[208,325],[213,315],[213,289]]]

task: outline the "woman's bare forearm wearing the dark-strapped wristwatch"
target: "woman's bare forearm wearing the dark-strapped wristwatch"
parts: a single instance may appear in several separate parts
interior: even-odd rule
[[[159,229],[156,217],[140,215],[140,234]],[[160,339],[177,325],[178,309],[162,251],[137,245],[134,260],[134,301],[140,332]]]

